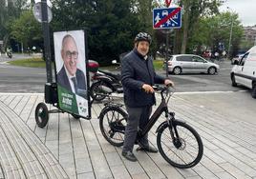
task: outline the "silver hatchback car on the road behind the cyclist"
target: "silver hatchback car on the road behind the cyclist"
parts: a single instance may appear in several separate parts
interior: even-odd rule
[[[163,63],[163,69],[166,65]],[[176,54],[170,57],[168,61],[169,73],[181,74],[190,73],[209,73],[215,74],[220,70],[220,66],[205,60],[203,57],[194,54]]]

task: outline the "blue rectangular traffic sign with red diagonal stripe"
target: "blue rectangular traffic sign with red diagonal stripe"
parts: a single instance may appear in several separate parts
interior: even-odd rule
[[[153,28],[180,29],[181,28],[181,7],[154,9]]]

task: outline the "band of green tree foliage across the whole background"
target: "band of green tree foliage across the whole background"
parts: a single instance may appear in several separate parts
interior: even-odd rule
[[[26,46],[42,48],[41,24],[37,23],[32,10],[26,7],[34,0],[0,1],[0,39],[11,34],[15,41]],[[150,53],[164,52],[166,34],[152,28],[152,10],[164,6],[163,0],[52,0],[53,31],[86,30],[89,58],[100,65],[108,65],[119,54],[132,50],[133,39],[139,31],[153,35]],[[203,47],[216,49],[219,42],[228,48],[231,22],[233,35],[231,50],[239,48],[243,34],[237,14],[219,14],[221,0],[178,0],[182,9],[182,28],[169,34],[174,53],[199,52]],[[243,46],[248,46],[244,43]],[[53,47],[52,47],[53,48]],[[53,51],[53,50],[52,50]]]

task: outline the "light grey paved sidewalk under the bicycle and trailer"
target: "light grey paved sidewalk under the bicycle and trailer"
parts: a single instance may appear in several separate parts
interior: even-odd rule
[[[256,179],[255,122],[244,121],[242,115],[235,113],[230,115],[224,106],[212,108],[218,105],[217,99],[246,95],[245,92],[175,94],[171,109],[177,118],[197,129],[204,147],[199,165],[176,169],[160,153],[135,151],[139,162],[125,160],[121,149],[111,146],[101,135],[97,116],[102,104],[93,105],[91,120],[53,113],[48,126],[40,129],[35,124],[34,109],[43,101],[43,94],[1,93],[0,178]],[[237,106],[232,108],[236,111]],[[156,128],[149,134],[155,146]]]

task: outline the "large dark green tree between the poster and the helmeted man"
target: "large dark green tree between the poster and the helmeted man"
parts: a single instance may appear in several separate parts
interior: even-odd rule
[[[53,30],[87,30],[89,58],[101,65],[131,50],[139,20],[131,0],[54,0]]]

